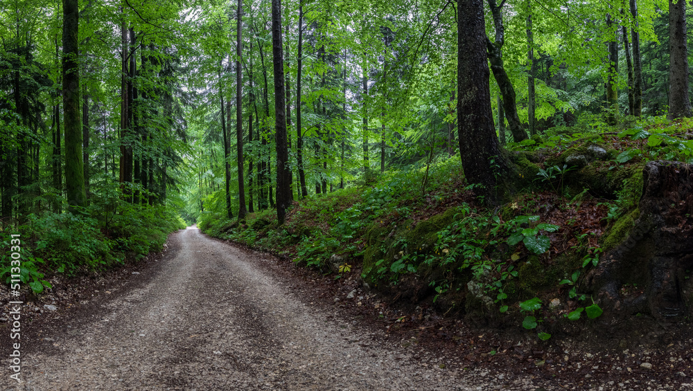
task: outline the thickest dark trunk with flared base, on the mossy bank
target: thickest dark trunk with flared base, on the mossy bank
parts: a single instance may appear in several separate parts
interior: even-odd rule
[[[457,2],[457,126],[459,156],[467,183],[480,183],[487,203],[498,204],[499,185],[512,178],[510,163],[498,144],[491,111],[486,63],[483,0]],[[505,175],[507,174],[507,175]],[[503,194],[505,195],[505,194]]]

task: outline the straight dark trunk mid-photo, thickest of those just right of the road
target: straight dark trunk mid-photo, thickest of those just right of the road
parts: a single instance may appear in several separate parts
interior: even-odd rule
[[[277,220],[284,224],[286,208],[290,206],[289,162],[286,145],[286,91],[284,91],[284,61],[281,51],[281,6],[272,0],[272,63],[274,65],[274,137],[277,147]]]

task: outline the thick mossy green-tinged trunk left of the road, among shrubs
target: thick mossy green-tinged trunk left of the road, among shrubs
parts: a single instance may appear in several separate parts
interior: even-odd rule
[[[65,187],[71,212],[86,206],[82,167],[82,124],[80,121],[79,7],[77,0],[63,0],[62,93],[65,108]]]

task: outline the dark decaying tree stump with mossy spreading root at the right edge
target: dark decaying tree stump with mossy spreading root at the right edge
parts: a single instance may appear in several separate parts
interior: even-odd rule
[[[693,309],[693,166],[671,161],[645,165],[639,215],[620,244],[607,250],[584,280],[613,316],[649,314],[659,320]],[[642,294],[624,294],[624,284]]]

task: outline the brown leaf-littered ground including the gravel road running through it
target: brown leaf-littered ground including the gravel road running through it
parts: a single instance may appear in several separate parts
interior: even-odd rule
[[[690,329],[470,329],[194,227],[159,258],[27,300],[23,381],[6,369],[2,390],[693,390]]]

